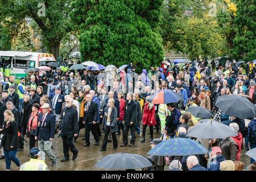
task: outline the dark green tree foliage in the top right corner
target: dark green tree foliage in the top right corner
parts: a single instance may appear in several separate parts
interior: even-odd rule
[[[231,55],[239,60],[256,59],[256,1],[239,0],[234,24],[236,35]]]

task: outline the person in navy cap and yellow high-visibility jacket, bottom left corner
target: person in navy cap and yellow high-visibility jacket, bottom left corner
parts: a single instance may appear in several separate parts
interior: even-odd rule
[[[30,150],[30,161],[22,164],[19,171],[49,171],[46,163],[39,159],[40,150],[36,147]]]

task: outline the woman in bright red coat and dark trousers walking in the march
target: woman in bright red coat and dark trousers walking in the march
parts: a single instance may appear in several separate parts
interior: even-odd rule
[[[147,126],[149,126],[149,130],[151,133],[151,138],[149,139],[149,142],[152,142],[153,140],[153,125],[156,125],[156,119],[155,119],[155,105],[148,102],[149,96],[145,98],[146,102],[144,104],[144,111],[143,111],[143,117],[142,117],[142,123],[143,123],[143,138],[140,140],[140,142],[145,142],[145,134]]]

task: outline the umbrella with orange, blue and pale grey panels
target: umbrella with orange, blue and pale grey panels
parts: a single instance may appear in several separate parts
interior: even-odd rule
[[[152,104],[167,104],[172,102],[178,102],[182,97],[172,90],[159,90],[152,96],[149,96],[148,102]]]

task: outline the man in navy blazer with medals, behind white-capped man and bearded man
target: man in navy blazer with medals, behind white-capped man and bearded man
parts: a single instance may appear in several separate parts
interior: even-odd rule
[[[54,115],[56,117],[56,122],[59,121],[60,118],[60,114],[62,112],[62,104],[65,102],[64,100],[64,96],[62,94],[60,94],[60,88],[56,87],[55,90],[55,95],[52,98],[52,109],[54,110]]]

